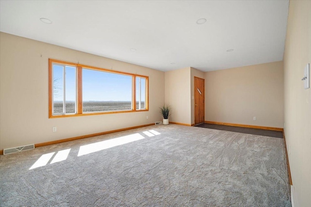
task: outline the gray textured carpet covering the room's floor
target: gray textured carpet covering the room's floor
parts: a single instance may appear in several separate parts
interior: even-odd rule
[[[130,134],[121,141],[139,140],[112,143]],[[39,147],[0,156],[0,206],[290,207],[283,142],[158,125]],[[51,163],[59,151],[67,159]]]

